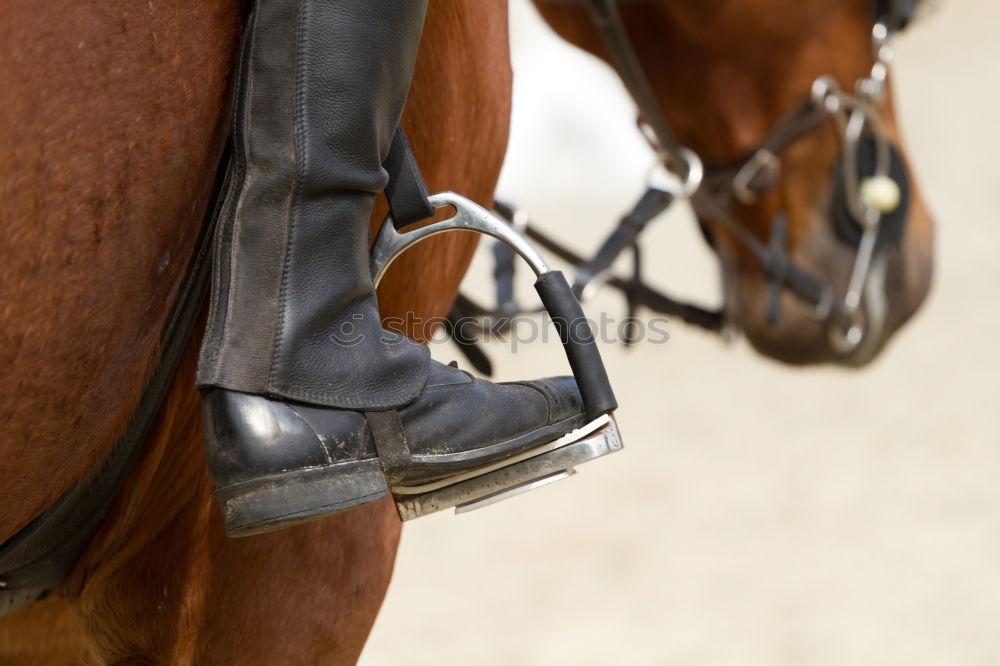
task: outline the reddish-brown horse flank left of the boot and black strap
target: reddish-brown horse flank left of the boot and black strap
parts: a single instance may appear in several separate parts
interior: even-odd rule
[[[211,196],[240,6],[4,15],[0,539],[135,408]]]

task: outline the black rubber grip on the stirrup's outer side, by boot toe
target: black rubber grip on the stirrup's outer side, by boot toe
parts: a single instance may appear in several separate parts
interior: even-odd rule
[[[580,301],[566,276],[561,271],[543,273],[535,281],[535,290],[559,331],[587,416],[594,419],[613,412],[618,401],[611,390],[590,322],[583,316]]]

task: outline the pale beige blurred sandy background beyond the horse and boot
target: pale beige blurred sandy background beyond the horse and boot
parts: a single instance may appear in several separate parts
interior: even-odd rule
[[[515,10],[502,190],[594,247],[648,157],[614,77]],[[606,346],[626,451],[407,525],[363,665],[1000,664],[998,25],[1000,4],[951,0],[899,41],[938,270],[883,357],[792,370],[681,323]],[[646,241],[657,282],[715,298],[685,211]],[[551,344],[491,353],[502,378],[563,372]]]

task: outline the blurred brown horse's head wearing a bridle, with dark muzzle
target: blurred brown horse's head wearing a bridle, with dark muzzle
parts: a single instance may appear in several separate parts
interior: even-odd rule
[[[705,164],[694,204],[723,266],[731,321],[774,358],[863,364],[927,294],[931,217],[879,85],[888,49],[873,48],[876,21],[901,27],[908,17],[884,12],[912,1],[620,2],[654,113]],[[563,37],[615,61],[585,8],[536,5]],[[867,88],[856,94],[859,80]],[[640,102],[641,115],[649,106]],[[869,178],[878,174],[887,177]],[[770,271],[754,239],[772,250]],[[783,258],[809,274],[798,291],[811,299],[775,286]]]

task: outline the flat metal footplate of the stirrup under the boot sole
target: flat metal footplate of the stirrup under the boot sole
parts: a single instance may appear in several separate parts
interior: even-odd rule
[[[575,473],[576,465],[621,448],[618,424],[605,415],[484,473],[423,487],[393,488],[393,497],[403,520],[451,507],[455,513],[465,513],[565,479]]]

